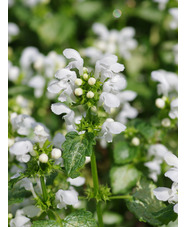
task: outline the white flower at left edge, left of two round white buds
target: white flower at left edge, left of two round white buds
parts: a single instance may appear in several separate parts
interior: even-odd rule
[[[28,162],[30,160],[29,152],[33,151],[33,145],[30,141],[18,141],[10,147],[10,154],[16,156],[19,162]]]

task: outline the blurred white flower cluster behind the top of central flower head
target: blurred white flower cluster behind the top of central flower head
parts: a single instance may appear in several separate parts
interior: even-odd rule
[[[93,32],[98,35],[93,47],[82,50],[82,54],[95,63],[105,54],[118,54],[124,59],[131,57],[131,51],[137,47],[134,39],[135,30],[132,27],[125,27],[121,31],[116,29],[108,30],[104,24],[94,23]]]

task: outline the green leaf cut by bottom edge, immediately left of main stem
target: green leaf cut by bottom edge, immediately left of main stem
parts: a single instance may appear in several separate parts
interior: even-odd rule
[[[78,210],[68,215],[64,220],[63,227],[97,227],[96,221],[89,211]]]

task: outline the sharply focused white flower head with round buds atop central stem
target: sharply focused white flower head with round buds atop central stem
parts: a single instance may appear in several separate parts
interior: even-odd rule
[[[60,94],[60,102],[52,104],[52,111],[57,115],[65,114],[63,118],[70,131],[99,133],[100,137],[111,142],[112,134],[119,134],[126,128],[113,119],[103,121],[106,118],[105,112],[111,113],[113,108],[120,106],[118,95],[126,83],[118,73],[124,70],[124,66],[117,63],[115,55],[107,55],[96,62],[93,72],[83,67],[84,61],[76,50],[65,49],[63,54],[72,60],[65,68],[57,71],[57,80],[48,87],[49,92]],[[77,121],[72,108],[80,106],[84,108],[84,115]]]

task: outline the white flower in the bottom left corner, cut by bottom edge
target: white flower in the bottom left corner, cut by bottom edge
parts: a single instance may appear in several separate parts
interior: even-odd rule
[[[23,210],[17,210],[15,218],[11,219],[10,227],[31,227],[30,219],[24,216]]]

